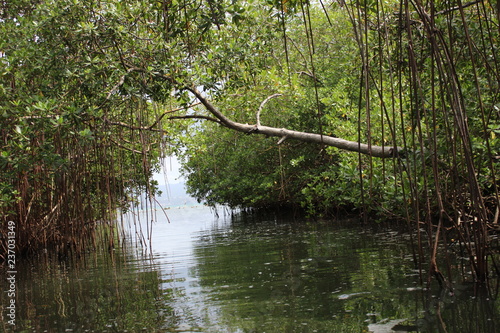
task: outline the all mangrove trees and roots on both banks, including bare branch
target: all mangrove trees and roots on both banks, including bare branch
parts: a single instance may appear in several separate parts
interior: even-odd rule
[[[427,283],[452,288],[450,242],[487,282],[499,17],[491,1],[2,2],[0,259],[9,221],[18,260],[91,248],[98,221],[112,234],[118,209],[154,207],[176,154],[208,205],[406,221]]]

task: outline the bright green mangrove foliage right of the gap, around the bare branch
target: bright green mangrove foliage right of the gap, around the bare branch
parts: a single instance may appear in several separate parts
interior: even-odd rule
[[[363,208],[383,216],[404,217],[410,210],[456,218],[457,207],[472,209],[465,193],[473,172],[493,214],[498,40],[487,25],[497,22],[495,11],[488,4],[464,8],[464,30],[459,8],[429,3],[425,10],[434,11],[440,34],[435,40],[422,9],[405,6],[252,9],[245,16],[249,26],[214,32],[225,47],[209,54],[226,60],[216,61],[216,72],[228,74],[211,88],[231,119],[255,123],[260,103],[280,93],[263,107],[263,124],[398,145],[408,152],[404,159],[277,144],[204,123],[181,151],[191,193],[210,204],[295,205],[311,214]],[[462,160],[467,154],[469,162]]]

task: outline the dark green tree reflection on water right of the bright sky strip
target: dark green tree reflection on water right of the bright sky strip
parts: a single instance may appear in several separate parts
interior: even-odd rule
[[[388,230],[235,220],[195,243],[193,274],[220,308],[218,324],[232,329],[361,332],[387,318],[439,331],[442,323],[459,330],[460,320],[496,317],[492,306],[480,313],[478,299],[441,299],[418,288],[409,246]]]

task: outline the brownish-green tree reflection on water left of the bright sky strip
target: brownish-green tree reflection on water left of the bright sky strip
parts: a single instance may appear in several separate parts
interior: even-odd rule
[[[159,268],[117,248],[81,262],[46,260],[20,269],[18,325],[36,332],[162,332],[178,318]],[[76,267],[74,267],[76,266]],[[19,328],[19,327],[18,327]]]

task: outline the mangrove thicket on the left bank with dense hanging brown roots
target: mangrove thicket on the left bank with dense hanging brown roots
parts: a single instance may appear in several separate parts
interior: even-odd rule
[[[154,192],[165,145],[156,99],[167,92],[131,70],[165,61],[149,41],[147,11],[2,3],[0,216],[16,221],[19,253],[80,251],[96,221],[112,220],[135,191]]]

